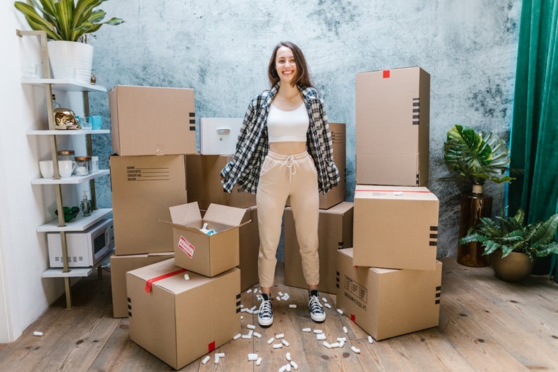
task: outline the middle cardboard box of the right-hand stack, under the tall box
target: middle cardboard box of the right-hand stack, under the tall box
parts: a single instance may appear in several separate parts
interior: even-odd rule
[[[356,185],[354,265],[435,270],[438,206],[425,187]]]

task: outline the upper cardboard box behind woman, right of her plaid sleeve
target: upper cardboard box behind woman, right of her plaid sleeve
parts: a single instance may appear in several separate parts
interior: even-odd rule
[[[329,123],[331,141],[333,142],[333,162],[337,165],[341,181],[325,195],[319,193],[319,209],[328,209],[345,200],[347,192],[347,128],[344,123]],[[287,207],[291,206],[287,198]]]

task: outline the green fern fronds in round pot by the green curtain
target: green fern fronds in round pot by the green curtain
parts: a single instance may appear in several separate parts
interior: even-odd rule
[[[520,208],[513,217],[497,216],[495,220],[481,217],[478,223],[469,229],[459,244],[478,241],[484,247],[484,255],[497,250],[502,251],[502,258],[511,252],[527,253],[529,260],[558,253],[555,232],[558,228],[558,214],[548,220],[525,223],[525,212]]]

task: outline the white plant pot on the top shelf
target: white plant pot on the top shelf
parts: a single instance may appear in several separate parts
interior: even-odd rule
[[[52,40],[47,43],[54,79],[91,82],[93,46],[77,41]]]

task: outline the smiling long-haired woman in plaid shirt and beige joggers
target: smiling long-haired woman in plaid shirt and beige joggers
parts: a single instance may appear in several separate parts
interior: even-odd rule
[[[276,45],[268,66],[271,90],[252,99],[244,117],[236,154],[221,171],[223,188],[235,184],[256,193],[259,228],[258,275],[262,295],[259,325],[273,323],[271,287],[277,264],[283,208],[290,198],[308,308],[315,322],[326,313],[319,302],[319,191],[340,181],[333,163],[331,133],[324,103],[312,87],[300,48],[285,41]]]

